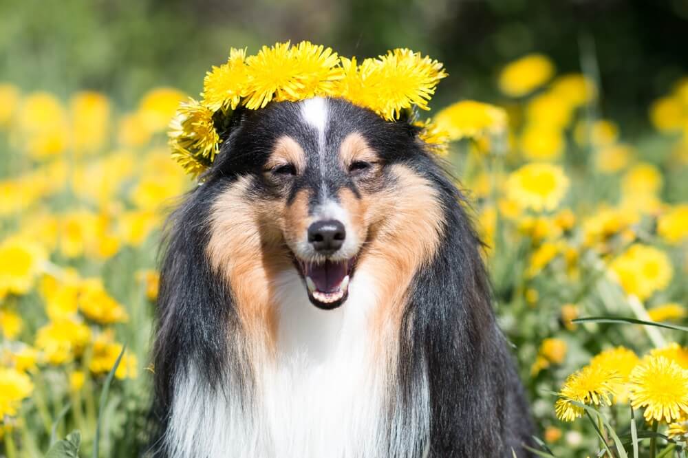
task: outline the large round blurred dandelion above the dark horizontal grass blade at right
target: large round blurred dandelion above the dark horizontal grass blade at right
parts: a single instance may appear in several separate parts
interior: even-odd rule
[[[674,274],[665,252],[640,243],[614,259],[610,270],[626,294],[634,294],[641,301],[667,287]]]

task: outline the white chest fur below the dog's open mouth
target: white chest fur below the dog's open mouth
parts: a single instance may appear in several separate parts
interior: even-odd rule
[[[365,272],[335,310],[314,307],[295,270],[277,290],[277,354],[254,368],[252,399],[233,390],[237,380],[213,391],[191,369],[175,391],[171,455],[411,458],[429,434],[427,380],[410,410],[395,408],[392,361],[369,331],[376,296]]]

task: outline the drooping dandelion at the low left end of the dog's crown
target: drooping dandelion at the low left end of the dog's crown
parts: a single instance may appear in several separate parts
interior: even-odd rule
[[[213,164],[219,135],[210,109],[190,99],[180,105],[169,127],[172,158],[186,173],[197,176]]]

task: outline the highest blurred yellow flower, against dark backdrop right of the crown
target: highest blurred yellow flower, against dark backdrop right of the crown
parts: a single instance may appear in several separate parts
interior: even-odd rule
[[[547,83],[554,73],[555,66],[547,56],[528,54],[502,69],[499,89],[510,97],[526,96]]]

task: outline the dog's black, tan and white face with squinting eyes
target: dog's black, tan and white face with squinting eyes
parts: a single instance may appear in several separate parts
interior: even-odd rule
[[[363,263],[394,283],[395,271],[429,256],[440,226],[435,193],[414,168],[419,156],[427,153],[415,128],[343,100],[246,113],[208,179],[222,186],[208,247],[215,268],[228,269],[239,295],[295,269],[321,309],[345,303]],[[250,294],[260,302],[270,292]]]

